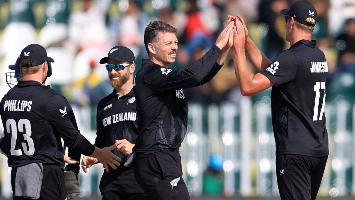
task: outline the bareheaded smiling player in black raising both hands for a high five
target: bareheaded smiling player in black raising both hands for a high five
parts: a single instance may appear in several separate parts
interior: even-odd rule
[[[232,46],[231,16],[215,45],[186,69],[174,70],[176,28],[152,21],[144,31],[148,59],[142,60],[133,87],[137,99],[138,137],[134,174],[149,199],[190,199],[182,179],[179,147],[187,131],[188,105],[183,89],[203,85],[222,67]]]

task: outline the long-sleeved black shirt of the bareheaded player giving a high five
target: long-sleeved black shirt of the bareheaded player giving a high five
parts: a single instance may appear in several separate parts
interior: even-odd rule
[[[189,107],[182,89],[207,83],[222,67],[213,46],[186,69],[174,70],[148,59],[133,80],[137,99],[138,137],[133,150],[141,156],[180,147],[187,131]]]

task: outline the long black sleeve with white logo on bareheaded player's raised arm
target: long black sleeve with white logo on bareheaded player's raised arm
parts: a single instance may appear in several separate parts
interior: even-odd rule
[[[220,65],[216,64],[221,50],[214,45],[208,52],[186,69],[166,69],[153,65],[144,74],[144,81],[153,92],[164,92],[176,88],[189,88],[208,82],[217,74]]]

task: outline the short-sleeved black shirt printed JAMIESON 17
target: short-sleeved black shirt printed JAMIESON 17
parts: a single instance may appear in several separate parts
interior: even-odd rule
[[[300,40],[259,73],[270,79],[276,154],[326,156],[327,60],[316,41]]]

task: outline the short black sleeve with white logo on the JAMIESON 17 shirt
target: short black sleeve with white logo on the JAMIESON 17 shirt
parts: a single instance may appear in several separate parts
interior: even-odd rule
[[[285,50],[259,73],[270,79],[275,86],[278,86],[295,78],[297,66],[296,56],[290,50]]]

